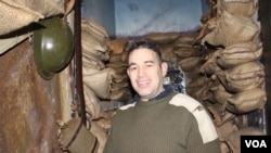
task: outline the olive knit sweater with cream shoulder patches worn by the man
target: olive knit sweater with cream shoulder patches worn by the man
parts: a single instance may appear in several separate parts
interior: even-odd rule
[[[216,128],[205,109],[175,92],[120,107],[104,148],[104,153],[220,152]]]

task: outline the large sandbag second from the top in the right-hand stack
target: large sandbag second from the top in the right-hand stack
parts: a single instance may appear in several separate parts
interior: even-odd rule
[[[260,27],[247,16],[232,15],[223,11],[218,20],[207,23],[211,29],[202,39],[202,44],[208,42],[212,46],[228,47],[234,43],[258,41]]]

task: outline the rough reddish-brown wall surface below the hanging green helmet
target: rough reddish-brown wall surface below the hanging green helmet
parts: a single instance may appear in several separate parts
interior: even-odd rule
[[[0,152],[59,153],[59,78],[42,79],[29,40],[0,55]]]

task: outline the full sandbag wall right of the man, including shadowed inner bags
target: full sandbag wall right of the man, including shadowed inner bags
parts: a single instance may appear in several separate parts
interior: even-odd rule
[[[206,52],[199,58],[199,75],[186,85],[186,91],[212,114],[221,142],[228,143],[227,146],[222,143],[222,152],[227,152],[224,148],[240,152],[232,136],[250,127],[242,123],[232,133],[224,133],[223,129],[234,125],[233,119],[236,125],[236,118],[261,111],[267,103],[260,26],[255,20],[258,1],[210,2],[210,11],[203,16],[203,26],[194,41]],[[263,135],[262,129],[255,130]],[[234,141],[238,139],[240,136]]]

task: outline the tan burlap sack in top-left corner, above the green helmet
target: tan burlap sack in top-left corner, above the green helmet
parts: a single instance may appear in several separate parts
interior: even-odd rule
[[[56,14],[64,14],[64,0],[1,0],[0,35]]]

